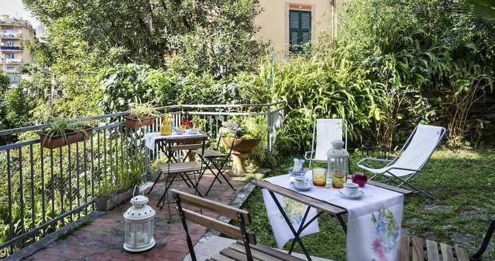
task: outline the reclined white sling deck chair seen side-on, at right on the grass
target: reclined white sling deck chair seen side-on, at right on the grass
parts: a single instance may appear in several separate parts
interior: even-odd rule
[[[422,171],[431,154],[440,144],[443,135],[445,135],[445,128],[443,127],[419,124],[409,135],[395,159],[365,158],[358,162],[358,166],[374,174],[370,179],[383,175],[388,178],[387,181],[390,180],[396,183],[398,188],[407,186],[408,189],[413,190],[415,193],[421,193],[426,198],[431,199],[433,197],[429,193],[412,185],[409,180]],[[388,164],[383,168],[374,169],[372,166],[365,164],[367,161],[387,162]]]

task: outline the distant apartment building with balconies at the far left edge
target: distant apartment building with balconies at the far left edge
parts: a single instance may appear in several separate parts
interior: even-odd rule
[[[33,56],[22,42],[35,39],[36,31],[27,20],[0,16],[0,70],[7,73],[11,84],[21,80],[17,69],[21,63],[33,62]]]

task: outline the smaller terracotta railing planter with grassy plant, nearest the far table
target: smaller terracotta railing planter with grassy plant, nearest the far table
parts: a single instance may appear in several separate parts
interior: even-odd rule
[[[141,103],[136,99],[136,102],[129,103],[129,115],[124,116],[125,126],[136,130],[151,125],[158,114],[151,102]]]

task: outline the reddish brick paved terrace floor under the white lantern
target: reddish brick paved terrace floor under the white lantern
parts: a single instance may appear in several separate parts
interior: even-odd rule
[[[238,188],[238,191],[246,183],[246,178],[230,176],[228,178],[233,186]],[[204,193],[212,180],[213,176],[205,175],[199,184],[199,190]],[[193,192],[192,188],[187,188],[182,181],[174,183],[173,188]],[[172,222],[168,224],[167,206],[165,205],[163,210],[156,207],[156,203],[164,190],[163,183],[161,183],[148,195],[149,204],[157,210],[155,216],[156,245],[151,250],[144,253],[127,253],[122,248],[124,243],[124,218],[122,214],[130,207],[130,203],[127,203],[106,212],[102,217],[93,220],[91,224],[83,226],[66,238],[59,239],[25,260],[182,260],[189,253],[189,250],[180,218],[175,215],[172,217]],[[235,198],[238,191],[233,191],[226,182],[219,184],[217,181],[208,198],[229,203]],[[176,213],[175,205],[170,205],[170,208],[173,213]],[[215,217],[211,212],[204,213]],[[206,231],[204,227],[196,224],[190,224],[188,228],[194,243],[199,241],[199,238]]]

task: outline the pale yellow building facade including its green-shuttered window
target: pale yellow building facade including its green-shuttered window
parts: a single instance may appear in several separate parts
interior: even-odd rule
[[[260,0],[257,40],[269,42],[278,56],[300,54],[322,35],[337,36],[343,0]]]

